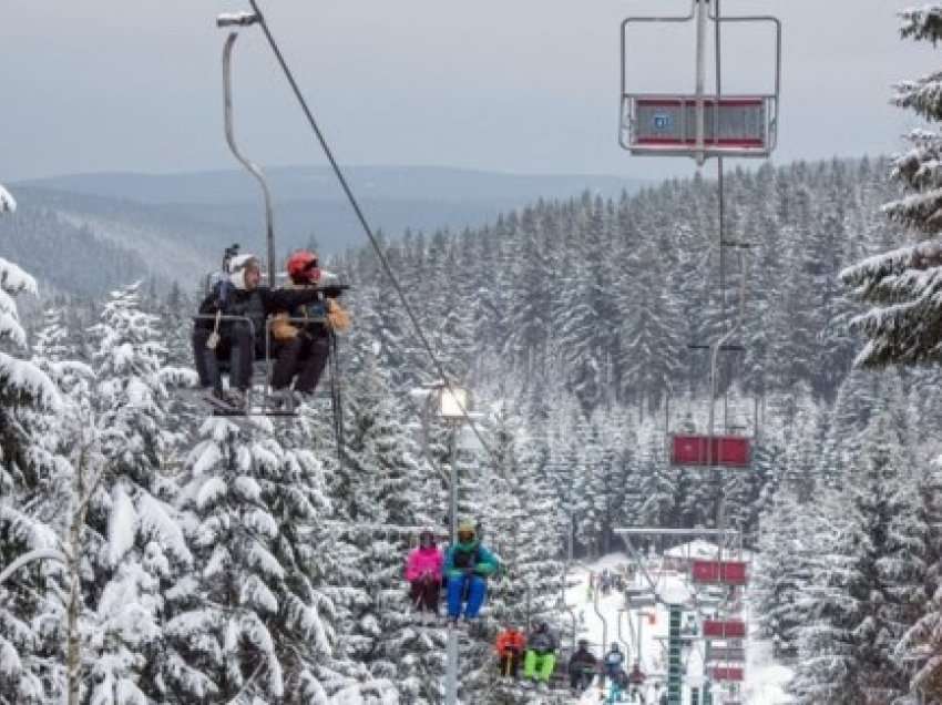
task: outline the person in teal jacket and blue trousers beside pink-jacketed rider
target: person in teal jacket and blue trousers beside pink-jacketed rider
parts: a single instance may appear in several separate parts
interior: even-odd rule
[[[448,617],[452,625],[458,624],[464,594],[468,604],[464,621],[478,617],[488,592],[485,579],[500,568],[498,559],[475,539],[474,524],[462,521],[458,527],[458,543],[450,545],[444,556],[444,572],[448,576]]]

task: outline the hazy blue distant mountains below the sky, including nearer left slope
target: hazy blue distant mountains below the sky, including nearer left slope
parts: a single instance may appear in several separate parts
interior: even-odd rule
[[[275,167],[266,173],[275,197],[279,259],[311,241],[326,255],[366,242],[327,167]],[[541,198],[571,198],[586,191],[617,197],[646,184],[616,176],[528,176],[426,166],[355,166],[347,175],[370,225],[392,238],[407,228],[477,228]],[[10,187],[20,212],[0,219],[0,256],[19,256],[60,292],[94,295],[136,278],[153,278],[158,288],[176,280],[192,289],[217,266],[226,245],[265,252],[259,188],[243,171],[74,174]],[[50,251],[47,244],[52,243]],[[53,252],[59,256],[52,257]],[[83,274],[63,276],[53,264],[62,259],[85,263]]]

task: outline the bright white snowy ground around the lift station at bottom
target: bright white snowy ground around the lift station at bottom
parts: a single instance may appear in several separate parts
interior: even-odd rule
[[[587,600],[588,572],[596,574],[602,570],[614,571],[628,563],[628,558],[623,553],[612,553],[603,556],[593,564],[575,568],[570,572],[570,580],[577,581],[567,593],[566,603],[571,605],[576,615],[584,619],[582,638],[587,638],[596,656],[602,656],[612,642],[620,642],[622,651],[626,653],[626,666],[629,668],[638,654],[637,629],[641,619],[641,667],[647,675],[645,687],[645,702],[648,705],[657,705],[664,693],[664,682],[667,672],[667,610],[664,605],[656,607],[644,607],[638,615],[637,610],[624,610],[624,597],[612,591],[608,596],[598,596],[598,613],[596,614],[595,602]],[[651,568],[652,578],[657,581],[657,590],[662,597],[669,601],[683,602],[689,595],[689,586],[686,576],[676,571],[661,571]],[[641,585],[641,576],[637,584]],[[621,633],[618,622],[621,620]],[[748,621],[748,612],[746,614]],[[693,647],[687,652],[687,676],[684,687],[684,703],[690,702],[690,687],[696,687],[703,682],[703,641],[693,642]],[[748,703],[749,705],[782,705],[789,703],[784,687],[791,673],[788,668],[776,664],[771,658],[771,648],[766,642],[748,640],[746,643],[746,681],[743,692],[730,702]],[[714,691],[716,693],[716,691]],[[598,691],[593,687],[586,692],[582,699],[583,704],[598,703]],[[724,703],[723,697],[714,697],[716,705]]]

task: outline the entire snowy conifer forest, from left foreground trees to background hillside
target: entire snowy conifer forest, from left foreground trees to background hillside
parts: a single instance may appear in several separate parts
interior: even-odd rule
[[[745,352],[728,359],[717,408],[756,442],[751,468],[721,486],[672,468],[665,442],[705,425],[706,356],[687,346],[725,319],[715,184],[539,202],[478,231],[386,242],[488,442],[459,450],[460,512],[505,571],[491,581],[489,636],[462,647],[463,688],[490,692],[499,624],[566,626],[571,530],[585,556],[618,548],[620,525],[709,527],[723,490],[730,525],[759,550],[762,629],[808,664],[793,684],[803,702],[826,702],[838,667],[816,650],[861,624],[878,646],[850,666],[907,692],[892,650],[931,616],[939,565],[939,379],[851,372],[859,306],[838,280],[899,237],[878,212],[898,195],[887,172],[862,160],[730,175],[728,237],[754,246]],[[342,462],[325,401],[293,420],[207,417],[188,389],[187,289],[51,307],[28,321],[27,348],[12,297],[33,283],[0,259],[0,556],[63,558],[0,585],[0,702],[69,688],[91,701],[440,701],[443,631],[416,623],[401,570],[418,527],[446,531],[449,429],[420,422],[409,390],[434,375],[375,255],[351,249],[330,268],[355,287]],[[741,283],[727,282],[726,318]],[[808,629],[821,613],[840,633]]]

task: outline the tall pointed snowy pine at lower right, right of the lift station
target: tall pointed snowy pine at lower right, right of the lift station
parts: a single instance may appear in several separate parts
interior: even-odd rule
[[[888,410],[864,439],[843,497],[818,509],[833,543],[815,539],[821,555],[791,684],[799,703],[892,703],[909,691],[893,650],[925,602],[929,527]]]

